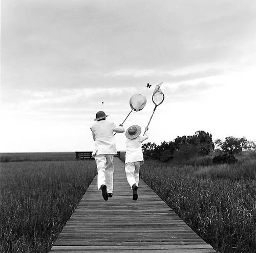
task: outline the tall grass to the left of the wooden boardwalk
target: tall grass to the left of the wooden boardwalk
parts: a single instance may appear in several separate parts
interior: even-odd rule
[[[95,174],[92,160],[2,163],[0,252],[47,252]]]

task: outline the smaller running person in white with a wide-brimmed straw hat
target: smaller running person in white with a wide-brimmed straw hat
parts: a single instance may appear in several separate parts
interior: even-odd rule
[[[126,130],[126,153],[125,173],[126,179],[133,190],[133,200],[138,199],[139,170],[143,164],[143,153],[141,142],[148,138],[148,128],[145,128],[145,135],[140,137],[141,128],[139,125],[132,125]]]

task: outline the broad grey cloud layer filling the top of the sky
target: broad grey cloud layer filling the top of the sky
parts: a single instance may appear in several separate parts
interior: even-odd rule
[[[144,83],[185,66],[212,68],[253,34],[255,5],[245,2],[6,1],[3,87],[117,87],[130,70]]]

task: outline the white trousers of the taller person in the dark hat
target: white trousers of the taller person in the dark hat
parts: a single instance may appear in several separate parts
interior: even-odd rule
[[[98,169],[98,190],[102,185],[106,186],[108,193],[113,192],[113,157],[114,155],[95,155],[94,159]]]

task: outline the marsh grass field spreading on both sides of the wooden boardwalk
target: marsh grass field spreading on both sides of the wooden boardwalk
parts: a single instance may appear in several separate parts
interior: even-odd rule
[[[77,161],[74,153],[5,158],[0,252],[48,252],[96,175],[95,162]],[[238,159],[234,165],[212,165],[210,156],[182,163],[145,161],[140,174],[218,252],[256,253],[256,155]]]

